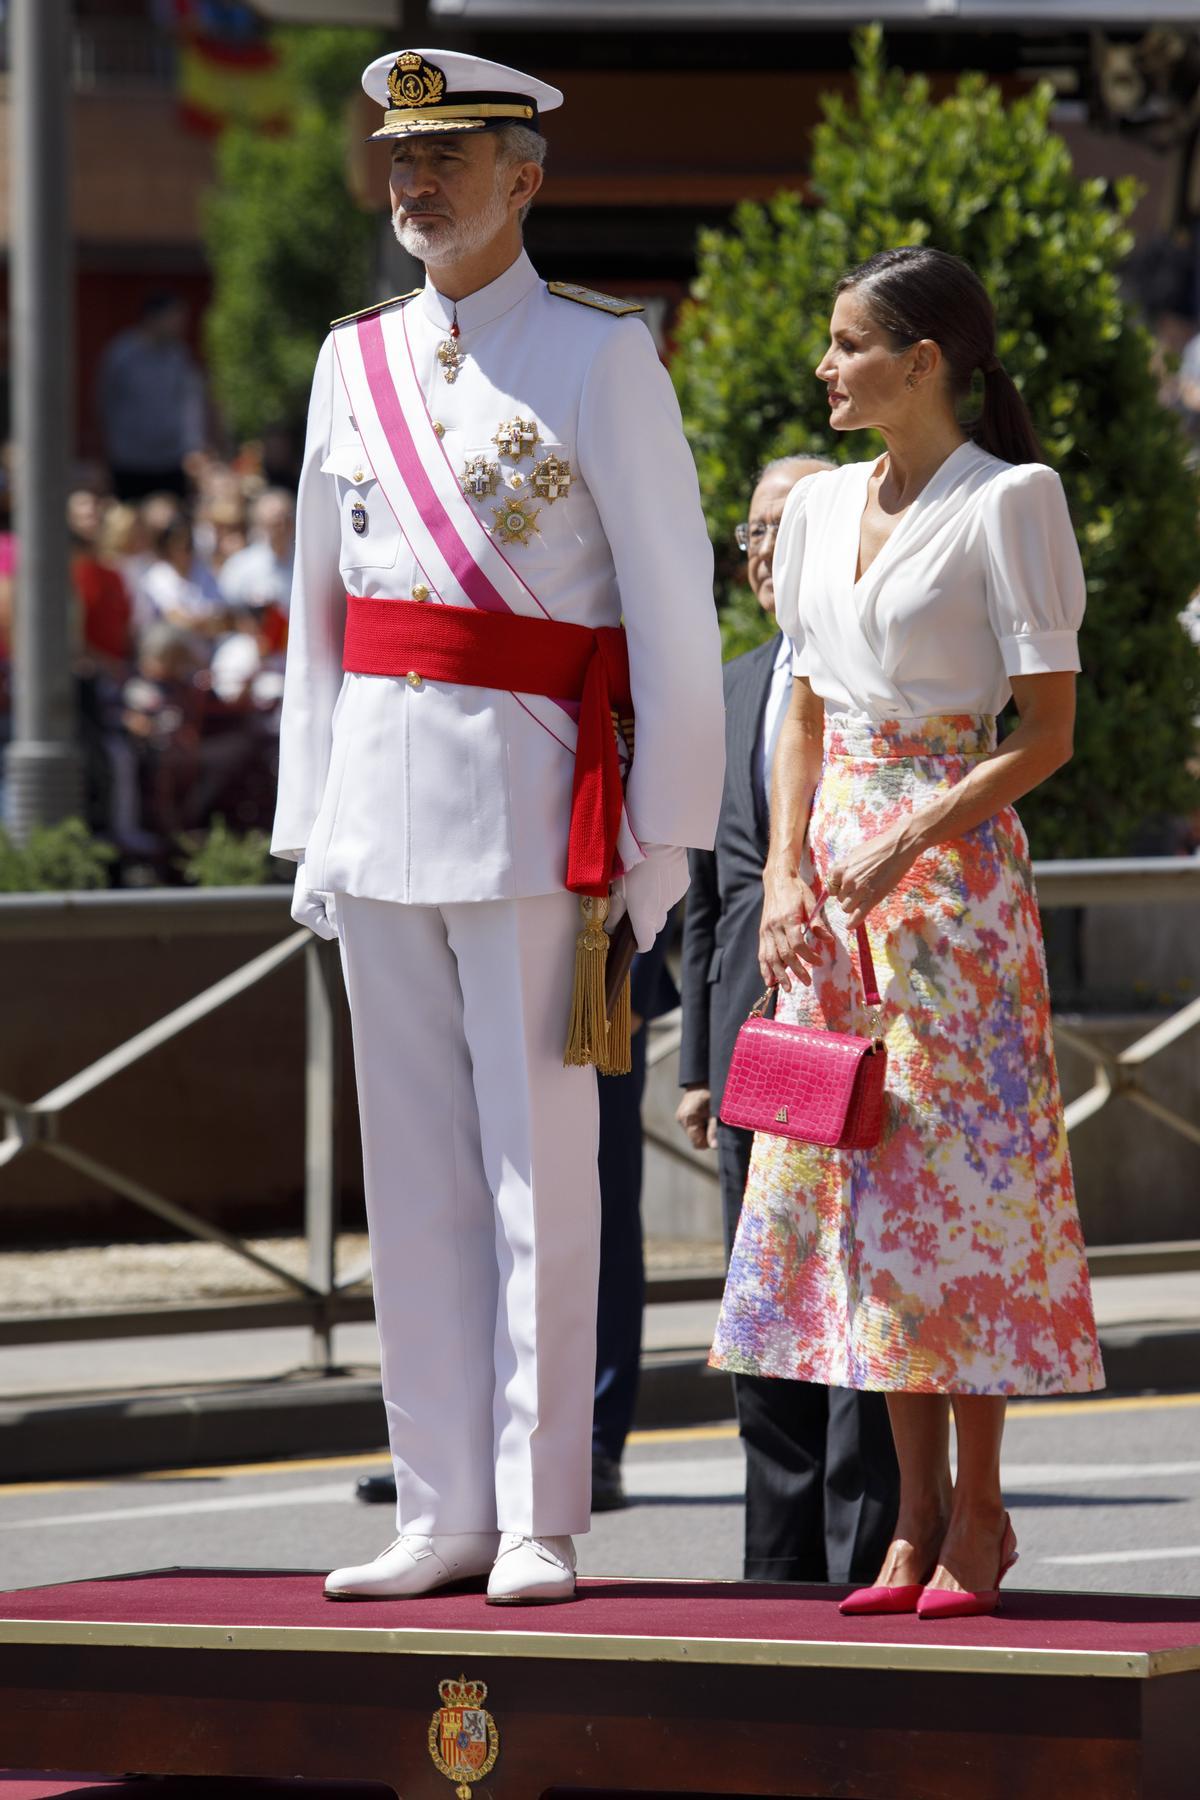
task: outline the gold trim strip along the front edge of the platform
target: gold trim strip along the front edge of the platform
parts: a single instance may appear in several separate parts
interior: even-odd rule
[[[601,1636],[560,1631],[396,1631],[380,1625],[153,1625],[5,1618],[0,1645],[79,1649],[309,1651],[385,1656],[554,1658],[579,1663],[700,1663],[754,1669],[862,1669],[907,1674],[1103,1676],[1146,1681],[1200,1669],[1200,1643],[1173,1651],[1051,1651],[954,1643],[842,1643],[784,1638]]]

